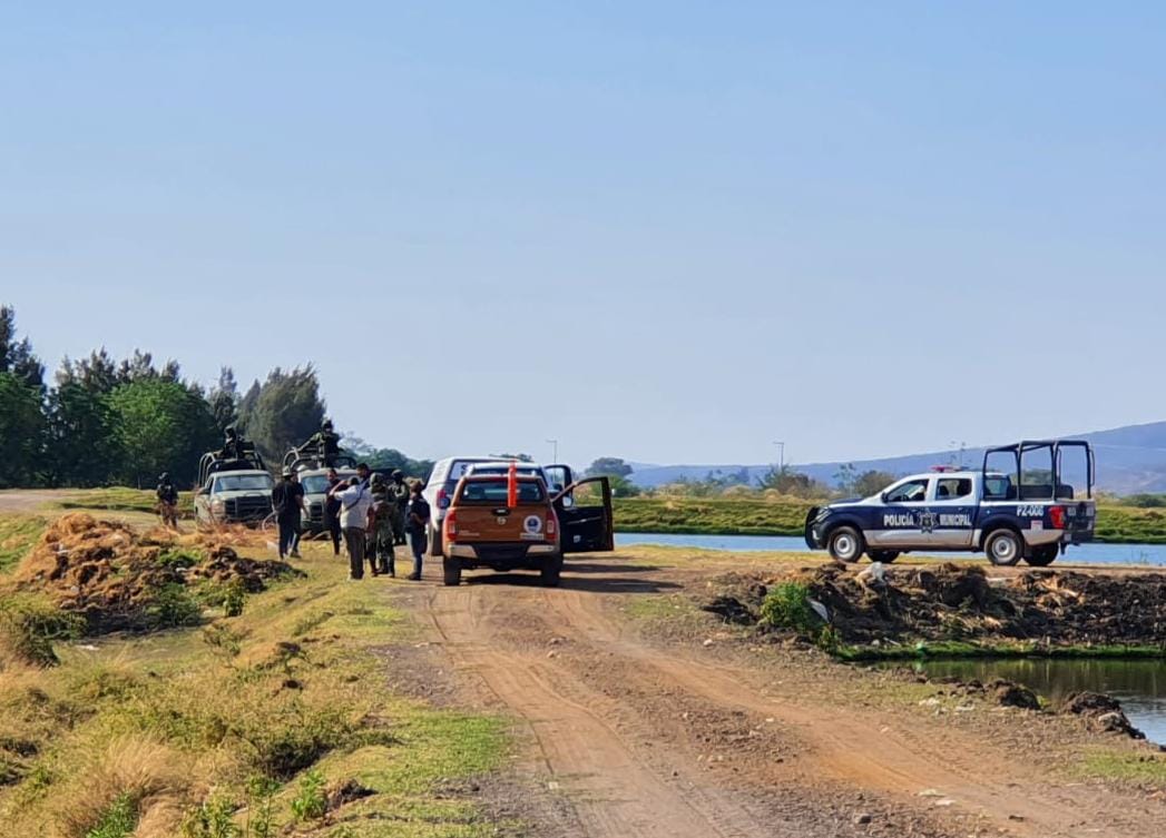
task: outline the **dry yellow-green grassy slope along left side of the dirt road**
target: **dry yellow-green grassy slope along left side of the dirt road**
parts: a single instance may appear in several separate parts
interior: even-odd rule
[[[9,565],[43,526],[0,517]],[[238,617],[84,645],[47,599],[5,596],[0,836],[498,835],[457,788],[501,763],[503,721],[394,696],[385,661],[412,638],[393,583],[349,584],[315,545],[298,566]],[[13,642],[38,634],[57,666]],[[329,810],[350,780],[366,796]]]

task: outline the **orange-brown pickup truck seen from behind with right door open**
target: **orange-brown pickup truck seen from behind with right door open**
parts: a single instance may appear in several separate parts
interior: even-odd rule
[[[462,570],[538,570],[543,585],[559,584],[564,552],[614,549],[611,485],[597,477],[571,484],[550,497],[542,478],[519,476],[515,497],[508,478],[462,478],[442,523],[445,584],[462,582]],[[576,503],[584,484],[598,488],[599,503]],[[511,501],[514,501],[513,506]]]

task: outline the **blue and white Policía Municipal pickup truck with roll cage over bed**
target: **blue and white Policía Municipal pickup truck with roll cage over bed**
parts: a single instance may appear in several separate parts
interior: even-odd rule
[[[1070,465],[1070,460],[1073,464]],[[978,471],[936,469],[859,500],[813,507],[806,543],[840,562],[865,552],[983,551],[992,564],[1051,564],[1069,544],[1091,541],[1097,509],[1089,443],[1031,441],[989,449]],[[1083,485],[1063,481],[1069,471]]]

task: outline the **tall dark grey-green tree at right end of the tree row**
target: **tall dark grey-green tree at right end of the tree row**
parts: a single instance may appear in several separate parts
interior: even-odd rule
[[[276,367],[244,396],[239,424],[265,459],[279,463],[293,445],[319,430],[324,411],[319,380],[310,364],[287,373]]]

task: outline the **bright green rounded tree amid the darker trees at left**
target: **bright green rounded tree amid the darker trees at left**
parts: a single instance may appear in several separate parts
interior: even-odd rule
[[[149,486],[161,472],[190,485],[198,458],[219,442],[210,404],[178,381],[146,378],[124,383],[108,403],[120,449],[115,474],[126,485]]]

